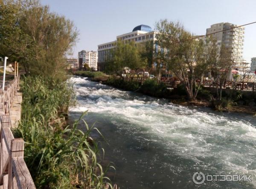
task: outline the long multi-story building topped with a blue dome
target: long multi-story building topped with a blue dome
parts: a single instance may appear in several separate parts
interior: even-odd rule
[[[105,68],[104,64],[110,52],[110,49],[115,48],[115,43],[117,40],[122,40],[125,42],[134,41],[135,43],[142,43],[149,40],[153,40],[154,42],[156,40],[155,37],[156,37],[155,31],[152,31],[150,26],[138,25],[132,30],[132,32],[117,36],[115,41],[98,45],[98,54],[99,54],[98,70],[99,71],[104,70]]]

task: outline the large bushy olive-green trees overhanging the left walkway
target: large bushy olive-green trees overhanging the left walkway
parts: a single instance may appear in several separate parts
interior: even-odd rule
[[[29,2],[0,0],[0,56],[20,62],[27,74],[62,76],[65,56],[78,32],[70,20],[51,13],[48,6]]]

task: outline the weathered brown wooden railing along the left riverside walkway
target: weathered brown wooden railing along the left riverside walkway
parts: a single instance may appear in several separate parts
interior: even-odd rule
[[[19,76],[0,90],[0,189],[35,189],[23,159],[24,141],[14,138],[11,130],[9,111],[18,87]]]

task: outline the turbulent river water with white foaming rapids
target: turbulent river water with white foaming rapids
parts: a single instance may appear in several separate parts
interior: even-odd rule
[[[105,159],[120,189],[256,188],[256,119],[209,108],[183,107],[166,99],[127,92],[72,77],[78,107],[71,119],[84,119],[104,135]],[[83,128],[81,126],[81,128]],[[192,175],[252,175],[251,182],[205,181]]]

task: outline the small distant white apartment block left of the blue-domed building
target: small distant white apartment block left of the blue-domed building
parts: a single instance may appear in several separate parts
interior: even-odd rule
[[[83,68],[84,64],[89,65],[93,70],[97,70],[98,53],[96,51],[80,51],[79,57],[79,69]]]

